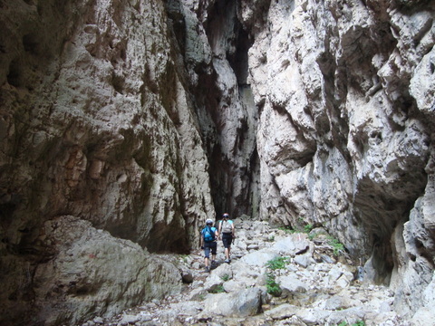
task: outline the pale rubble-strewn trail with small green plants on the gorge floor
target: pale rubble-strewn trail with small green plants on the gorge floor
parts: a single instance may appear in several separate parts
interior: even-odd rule
[[[393,292],[364,283],[361,267],[322,229],[289,233],[238,218],[231,263],[218,242],[205,272],[203,253],[168,254],[182,291],[94,325],[413,325],[393,311]]]

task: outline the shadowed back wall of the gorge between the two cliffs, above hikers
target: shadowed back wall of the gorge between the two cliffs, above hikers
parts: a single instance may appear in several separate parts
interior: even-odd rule
[[[179,4],[181,5],[175,5]],[[211,194],[218,215],[259,214],[258,110],[247,83],[252,38],[237,19],[236,1],[169,1],[169,16],[184,15],[184,60],[189,72]]]

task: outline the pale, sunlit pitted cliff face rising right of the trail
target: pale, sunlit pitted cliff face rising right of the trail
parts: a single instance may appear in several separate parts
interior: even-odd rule
[[[433,303],[434,9],[241,1],[239,14],[255,38],[260,216],[326,226],[409,315]]]

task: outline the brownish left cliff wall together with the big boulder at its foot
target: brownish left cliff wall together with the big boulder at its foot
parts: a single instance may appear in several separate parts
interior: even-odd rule
[[[2,0],[0,24],[0,323],[75,324],[179,290],[149,252],[188,253],[215,213],[164,4]]]

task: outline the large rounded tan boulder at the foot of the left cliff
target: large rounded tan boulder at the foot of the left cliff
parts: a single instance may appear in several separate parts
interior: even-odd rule
[[[53,259],[34,272],[35,323],[75,324],[95,313],[111,317],[122,307],[181,290],[174,264],[73,216],[47,221],[41,244],[52,248]]]

